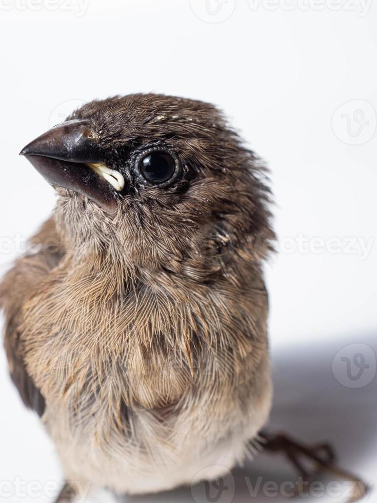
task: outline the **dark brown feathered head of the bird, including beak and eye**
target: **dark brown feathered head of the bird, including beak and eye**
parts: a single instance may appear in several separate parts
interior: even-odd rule
[[[204,279],[273,236],[260,161],[206,103],[93,101],[21,153],[58,192],[56,220],[75,253]]]

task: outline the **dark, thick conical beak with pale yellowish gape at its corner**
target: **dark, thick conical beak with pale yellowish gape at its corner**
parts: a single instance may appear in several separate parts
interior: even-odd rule
[[[83,194],[105,211],[116,208],[124,178],[105,164],[104,151],[88,121],[59,124],[20,152],[51,185]]]

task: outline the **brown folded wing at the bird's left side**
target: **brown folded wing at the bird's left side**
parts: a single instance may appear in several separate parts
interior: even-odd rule
[[[0,307],[5,314],[4,345],[11,378],[26,407],[42,416],[45,400],[27,372],[18,327],[23,305],[64,255],[52,218],[30,240],[29,248],[0,283]],[[33,253],[33,248],[38,251]]]

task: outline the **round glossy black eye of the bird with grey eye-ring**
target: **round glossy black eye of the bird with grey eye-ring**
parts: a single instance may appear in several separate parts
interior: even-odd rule
[[[144,150],[135,161],[135,175],[144,185],[170,185],[179,173],[176,154],[161,147]]]

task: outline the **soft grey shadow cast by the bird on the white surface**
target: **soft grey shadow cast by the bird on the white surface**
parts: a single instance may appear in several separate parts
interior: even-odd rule
[[[350,344],[358,345],[350,347]],[[365,345],[371,352],[367,350],[366,358],[360,359],[363,353],[358,350],[365,352]],[[342,353],[339,353],[341,350]],[[283,431],[307,443],[331,442],[338,454],[338,464],[362,477],[372,487],[377,471],[376,350],[375,337],[369,334],[328,343],[313,341],[310,345],[274,351],[275,399],[268,425],[271,432]],[[355,363],[353,356],[356,356]],[[364,371],[367,377],[363,375]],[[263,454],[244,468],[234,470],[233,475],[224,479],[224,488],[220,491],[201,483],[193,488],[180,488],[156,495],[124,496],[118,501],[244,503],[272,500],[281,503],[290,499],[282,494],[282,484],[292,482],[295,478],[292,467],[283,456]],[[329,482],[329,479],[323,482]],[[291,492],[290,486],[283,488]],[[347,501],[351,489],[349,483],[333,481],[331,486],[325,485],[324,490],[321,486],[313,485],[310,491],[304,490],[304,496],[297,499]],[[373,501],[374,498],[372,489],[365,501]]]

